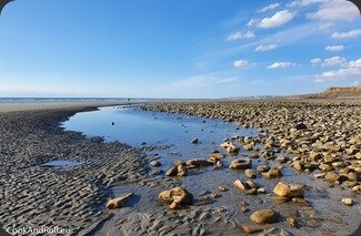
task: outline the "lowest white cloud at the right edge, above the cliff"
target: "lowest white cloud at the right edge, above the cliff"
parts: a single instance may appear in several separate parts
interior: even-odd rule
[[[338,71],[325,71],[318,75],[315,81],[323,82],[327,80],[357,80],[361,81],[361,59],[350,61],[345,68]]]

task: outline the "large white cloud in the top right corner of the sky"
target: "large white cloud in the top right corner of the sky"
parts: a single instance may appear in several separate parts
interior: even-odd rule
[[[318,11],[308,14],[309,19],[325,21],[352,21],[359,17],[359,9],[352,2],[345,0],[327,0],[320,6]]]

